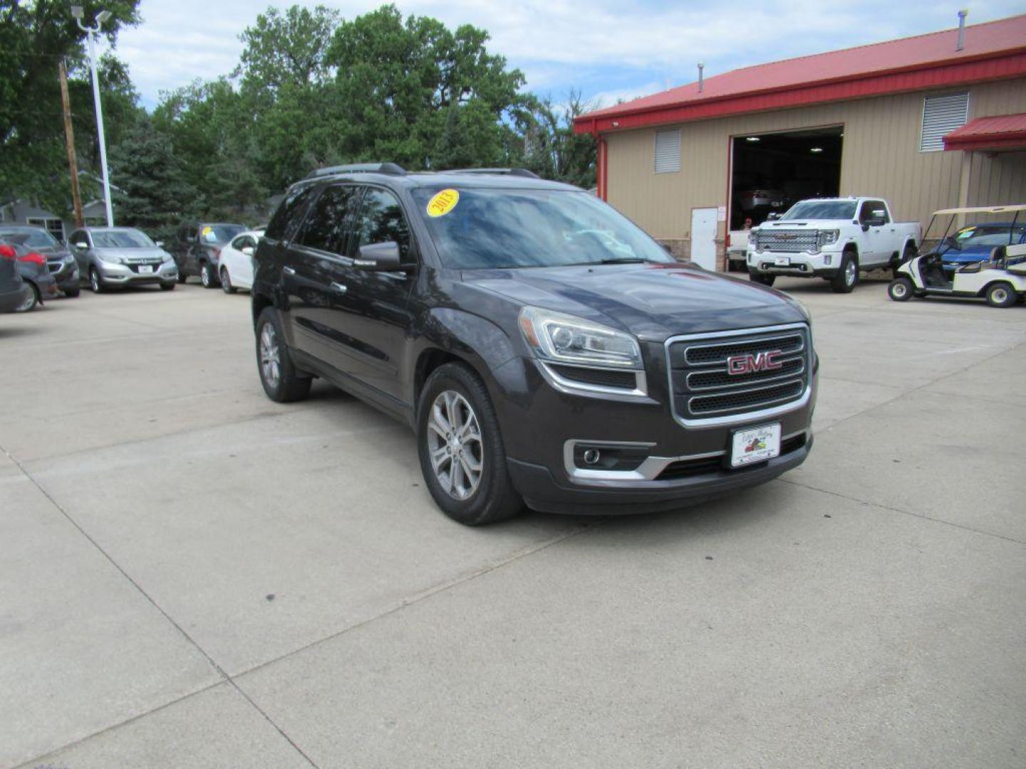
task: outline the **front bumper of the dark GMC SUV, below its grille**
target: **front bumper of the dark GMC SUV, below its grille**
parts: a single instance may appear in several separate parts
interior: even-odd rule
[[[790,410],[728,424],[684,426],[670,407],[663,345],[645,343],[648,394],[609,400],[561,393],[534,361],[516,358],[492,371],[511,480],[527,504],[548,512],[613,515],[672,510],[696,499],[764,483],[797,467],[813,443],[818,360],[808,397]],[[750,468],[725,467],[737,430],[780,422],[781,455]],[[574,447],[636,450],[633,471],[581,472]],[[788,450],[788,449],[791,450]],[[676,472],[680,469],[680,472]]]

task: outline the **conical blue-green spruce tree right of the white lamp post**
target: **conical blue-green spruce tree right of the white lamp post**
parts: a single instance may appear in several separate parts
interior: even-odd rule
[[[111,148],[111,163],[123,191],[113,192],[119,224],[137,227],[154,239],[169,239],[183,218],[202,210],[196,188],[186,179],[182,157],[149,118],[136,121]]]

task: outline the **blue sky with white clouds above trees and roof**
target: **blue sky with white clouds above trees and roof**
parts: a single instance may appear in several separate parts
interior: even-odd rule
[[[297,0],[316,5],[316,0]],[[381,2],[332,2],[351,18]],[[125,30],[118,54],[152,108],[160,92],[196,78],[228,74],[238,60],[239,33],[271,0],[143,0],[144,22]],[[450,27],[473,24],[491,35],[489,49],[527,77],[527,88],[562,100],[570,88],[614,104],[706,75],[957,25],[1014,15],[1022,0],[448,0],[396,2],[404,13],[433,15]]]

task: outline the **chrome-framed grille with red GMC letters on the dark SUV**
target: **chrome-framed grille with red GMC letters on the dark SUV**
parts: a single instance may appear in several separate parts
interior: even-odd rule
[[[800,401],[808,390],[812,351],[803,324],[687,336],[671,340],[667,354],[673,412],[685,423],[738,421],[733,417]]]

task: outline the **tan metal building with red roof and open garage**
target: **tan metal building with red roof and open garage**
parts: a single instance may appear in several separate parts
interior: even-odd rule
[[[681,256],[806,197],[1026,201],[1026,15],[735,70],[579,117],[598,194]]]

